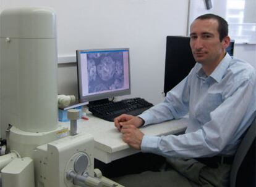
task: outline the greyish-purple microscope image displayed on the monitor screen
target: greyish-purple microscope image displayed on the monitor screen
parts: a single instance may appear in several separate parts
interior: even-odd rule
[[[124,87],[122,52],[93,52],[87,54],[89,93]]]

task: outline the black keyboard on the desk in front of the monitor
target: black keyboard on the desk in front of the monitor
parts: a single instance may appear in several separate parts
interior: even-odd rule
[[[94,116],[105,119],[106,121],[114,121],[114,118],[121,114],[137,116],[151,106],[153,105],[143,98],[129,98],[116,102],[109,101],[103,104],[88,105],[89,111]]]

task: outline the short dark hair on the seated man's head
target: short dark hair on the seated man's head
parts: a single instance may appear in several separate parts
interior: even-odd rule
[[[223,40],[226,36],[228,36],[228,22],[224,20],[222,17],[215,14],[204,14],[195,18],[195,20],[208,20],[215,19],[218,21],[218,33],[220,35],[220,41]]]

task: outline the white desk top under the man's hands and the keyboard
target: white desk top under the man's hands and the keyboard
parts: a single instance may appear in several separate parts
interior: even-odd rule
[[[78,132],[91,133],[95,140],[96,159],[108,164],[116,159],[138,153],[134,148],[130,148],[122,141],[121,133],[114,127],[114,122],[108,122],[98,117],[88,114],[89,120],[79,119],[77,121]],[[69,127],[69,122],[59,122],[59,124]],[[187,119],[179,119],[161,124],[148,125],[142,127],[143,133],[148,135],[168,135],[184,132],[187,127]]]

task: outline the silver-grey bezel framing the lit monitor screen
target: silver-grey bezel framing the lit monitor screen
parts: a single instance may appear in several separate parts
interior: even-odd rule
[[[82,94],[82,76],[81,76],[81,59],[80,59],[80,52],[100,52],[100,51],[115,51],[115,50],[126,50],[128,51],[128,76],[129,76],[129,89],[124,90],[116,90],[111,92],[105,92],[101,94],[93,94],[93,95],[85,95]],[[109,48],[109,49],[79,49],[76,50],[76,57],[77,57],[77,85],[78,85],[78,94],[80,101],[96,101],[96,100],[104,100],[112,97],[118,97],[122,95],[129,95],[130,94],[130,50],[128,47],[124,48]]]

